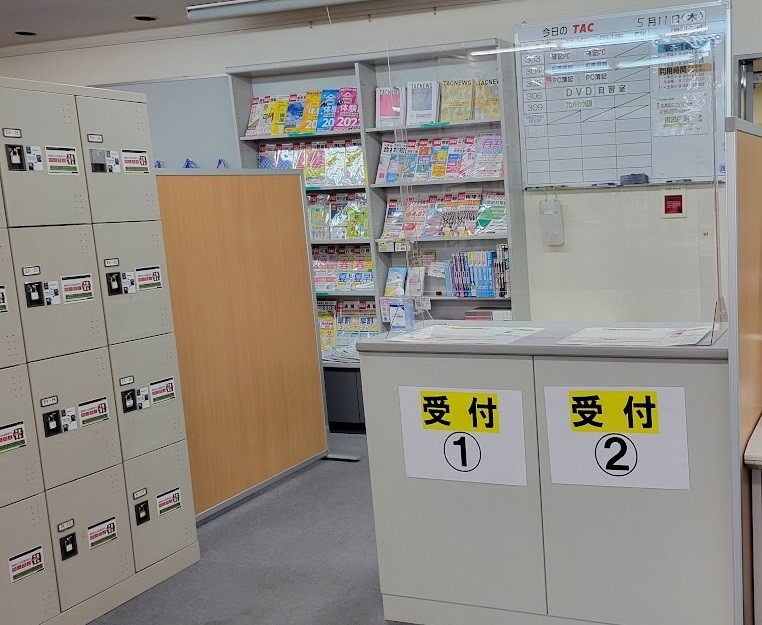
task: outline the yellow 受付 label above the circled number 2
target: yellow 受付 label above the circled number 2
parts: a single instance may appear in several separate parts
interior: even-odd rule
[[[569,391],[569,427],[572,432],[659,433],[659,396],[656,391]]]

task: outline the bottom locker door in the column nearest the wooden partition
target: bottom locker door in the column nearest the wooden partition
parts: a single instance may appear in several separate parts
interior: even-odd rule
[[[185,441],[125,462],[124,475],[138,571],[196,542]]]

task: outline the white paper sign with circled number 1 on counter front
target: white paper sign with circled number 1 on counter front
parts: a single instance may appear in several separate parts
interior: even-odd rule
[[[405,475],[526,486],[521,391],[399,387]]]

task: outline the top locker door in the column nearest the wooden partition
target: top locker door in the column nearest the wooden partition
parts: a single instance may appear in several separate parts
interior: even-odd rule
[[[77,98],[93,222],[159,219],[145,104]]]

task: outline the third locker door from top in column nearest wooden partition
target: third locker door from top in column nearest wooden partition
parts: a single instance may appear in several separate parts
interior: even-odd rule
[[[120,343],[109,351],[124,459],[183,440],[175,335]]]

